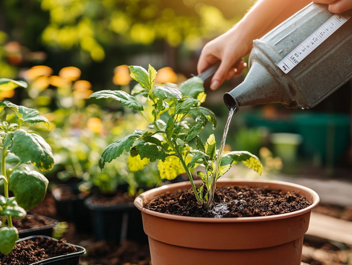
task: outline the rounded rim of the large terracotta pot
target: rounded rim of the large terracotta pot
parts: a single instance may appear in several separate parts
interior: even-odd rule
[[[200,184],[201,180],[195,181],[195,184]],[[170,189],[182,189],[185,186],[190,186],[189,181],[180,182],[180,183],[173,183],[164,185],[155,189],[151,189],[145,191],[144,193],[138,195],[134,200],[134,205],[142,212],[153,215],[160,218],[166,219],[173,219],[178,221],[187,221],[187,222],[211,222],[211,223],[232,223],[232,222],[261,222],[261,221],[273,221],[279,219],[290,218],[293,216],[301,215],[313,210],[319,203],[319,195],[312,189],[304,187],[299,184],[285,182],[285,181],[276,181],[276,180],[269,180],[269,179],[231,179],[231,178],[222,178],[218,180],[218,183],[226,183],[226,182],[240,182],[240,183],[268,183],[268,184],[279,184],[284,185],[286,187],[299,189],[305,191],[306,193],[310,194],[312,197],[312,204],[304,209],[285,213],[285,214],[276,214],[276,215],[269,215],[269,216],[254,216],[254,217],[226,217],[226,218],[214,218],[214,217],[193,217],[193,216],[181,216],[181,215],[172,215],[172,214],[164,214],[158,213],[152,210],[148,210],[144,208],[144,197],[150,197],[154,193],[159,193],[159,191],[164,191],[165,193]]]

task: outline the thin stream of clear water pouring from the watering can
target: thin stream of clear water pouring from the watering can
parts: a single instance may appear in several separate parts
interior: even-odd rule
[[[215,170],[212,176],[212,184],[210,185],[210,192],[209,192],[209,198],[208,198],[208,211],[212,208],[212,202],[214,199],[214,192],[216,188],[216,180],[219,178],[221,157],[222,157],[222,153],[224,152],[226,136],[227,136],[228,128],[230,127],[232,116],[236,112],[236,110],[237,110],[237,106],[233,105],[230,109],[230,112],[228,113],[225,130],[224,130],[224,133],[222,134],[219,154],[218,154],[218,158],[216,159]]]

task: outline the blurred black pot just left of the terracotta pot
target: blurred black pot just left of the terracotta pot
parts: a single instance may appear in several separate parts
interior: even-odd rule
[[[96,240],[148,242],[143,230],[142,214],[133,202],[102,206],[94,204],[92,199],[93,196],[88,197],[84,204],[90,210]]]

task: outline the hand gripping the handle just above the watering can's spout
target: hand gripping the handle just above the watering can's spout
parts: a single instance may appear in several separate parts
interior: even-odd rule
[[[210,83],[210,89],[217,89],[224,81],[239,76],[247,64],[241,58],[249,53],[251,45],[246,45],[236,32],[228,31],[208,42],[199,57],[197,71],[200,74],[212,64],[221,61]]]

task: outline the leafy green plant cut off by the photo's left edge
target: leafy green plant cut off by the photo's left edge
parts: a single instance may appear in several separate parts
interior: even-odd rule
[[[0,89],[13,89],[16,86],[25,85],[0,79]],[[25,217],[26,210],[43,200],[48,187],[48,179],[37,171],[23,167],[23,164],[32,164],[40,171],[48,171],[54,166],[54,156],[50,146],[38,133],[21,128],[24,124],[38,122],[49,126],[48,120],[40,116],[36,109],[0,101],[0,114],[5,115],[5,120],[0,120],[0,182],[4,183],[5,195],[0,195],[0,252],[8,254],[18,240],[18,231],[12,226],[12,217]],[[10,168],[7,164],[14,166]],[[14,197],[9,197],[9,190]]]

